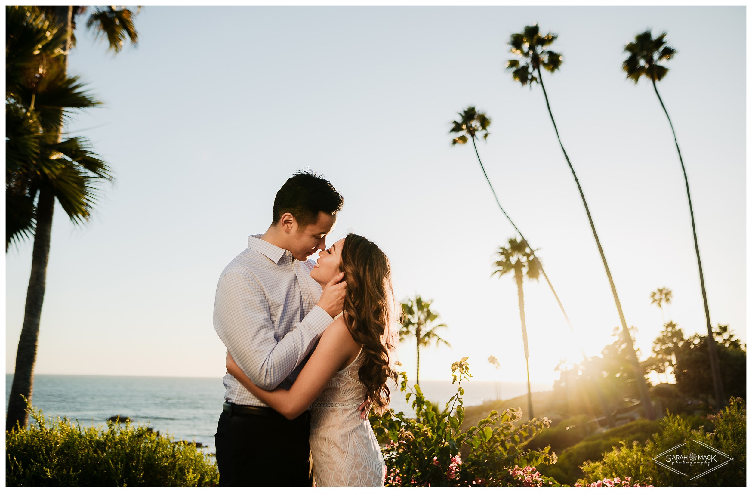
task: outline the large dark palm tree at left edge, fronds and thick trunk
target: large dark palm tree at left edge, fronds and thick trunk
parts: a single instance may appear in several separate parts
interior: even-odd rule
[[[83,10],[77,8],[79,13]],[[89,19],[92,28],[129,32],[123,23],[108,17],[115,10],[96,8]],[[25,400],[31,404],[55,201],[71,221],[82,223],[96,203],[98,183],[112,180],[108,166],[92,152],[86,139],[63,138],[62,127],[71,111],[100,105],[83,90],[77,77],[67,74],[73,14],[73,7],[6,9],[5,249],[34,236],[6,430],[25,427],[29,420]],[[122,46],[119,39],[117,34],[108,36],[115,51]]]

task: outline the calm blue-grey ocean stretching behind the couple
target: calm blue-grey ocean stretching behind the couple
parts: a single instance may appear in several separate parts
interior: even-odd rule
[[[5,409],[13,374],[5,374]],[[532,383],[532,390],[545,391],[550,385]],[[484,401],[514,398],[527,390],[526,383],[462,383],[465,406]],[[453,396],[456,384],[425,380],[423,394],[441,408]],[[45,416],[68,417],[84,426],[102,425],[108,417],[130,417],[134,423],[148,424],[162,433],[204,444],[205,453],[214,453],[214,432],[224,402],[221,377],[137,377],[38,374],[34,378],[33,406]],[[405,396],[393,393],[392,408],[410,414]]]

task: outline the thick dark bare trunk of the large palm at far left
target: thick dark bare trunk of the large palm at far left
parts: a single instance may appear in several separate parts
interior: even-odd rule
[[[53,191],[44,188],[39,192],[37,204],[37,227],[32,251],[32,274],[29,277],[29,289],[26,291],[26,309],[23,314],[23,326],[16,352],[16,368],[13,374],[11,395],[8,399],[8,414],[5,417],[5,430],[16,426],[26,427],[29,414],[26,402],[32,405],[32,387],[34,385],[34,364],[37,359],[37,342],[39,320],[44,302],[44,289],[47,286],[47,259],[50,254],[50,236],[52,217],[55,206]]]

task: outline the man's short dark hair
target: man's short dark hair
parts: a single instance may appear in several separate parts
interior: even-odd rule
[[[342,196],[329,180],[311,170],[299,171],[287,179],[274,196],[274,219],[277,223],[283,214],[295,217],[298,226],[316,223],[319,211],[336,214],[342,209]]]

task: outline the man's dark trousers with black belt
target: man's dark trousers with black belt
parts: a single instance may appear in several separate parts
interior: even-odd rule
[[[214,435],[220,487],[313,486],[310,430],[310,411],[293,420],[223,411]]]

